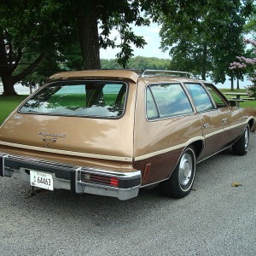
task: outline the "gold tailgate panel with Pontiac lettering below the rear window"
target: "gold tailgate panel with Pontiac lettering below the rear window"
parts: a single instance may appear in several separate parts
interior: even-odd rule
[[[133,154],[133,118],[90,119],[13,113],[1,127],[0,144],[122,160]]]

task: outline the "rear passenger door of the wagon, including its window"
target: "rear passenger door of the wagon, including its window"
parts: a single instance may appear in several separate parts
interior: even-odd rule
[[[202,135],[205,137],[205,150],[200,160],[216,154],[224,139],[223,117],[214,106],[211,96],[202,84],[185,83],[201,119]]]

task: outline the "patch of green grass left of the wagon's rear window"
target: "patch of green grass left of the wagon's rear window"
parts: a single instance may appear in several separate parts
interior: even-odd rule
[[[27,96],[0,96],[0,125]]]

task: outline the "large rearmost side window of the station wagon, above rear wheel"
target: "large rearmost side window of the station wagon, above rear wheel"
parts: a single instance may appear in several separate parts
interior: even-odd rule
[[[151,84],[147,87],[148,119],[193,113],[181,84]]]

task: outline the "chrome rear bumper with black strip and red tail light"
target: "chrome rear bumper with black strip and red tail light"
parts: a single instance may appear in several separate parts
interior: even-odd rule
[[[54,189],[113,196],[119,200],[137,196],[142,180],[140,171],[112,172],[0,153],[0,176],[30,183],[30,171],[49,173]]]

